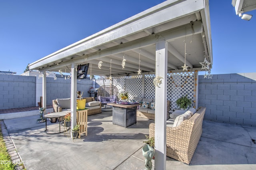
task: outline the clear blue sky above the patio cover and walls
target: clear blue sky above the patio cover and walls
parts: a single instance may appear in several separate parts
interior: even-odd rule
[[[164,0],[0,0],[0,71],[28,63]],[[256,10],[242,20],[232,0],[210,0],[212,74],[256,72]],[[201,72],[204,74],[204,72]]]

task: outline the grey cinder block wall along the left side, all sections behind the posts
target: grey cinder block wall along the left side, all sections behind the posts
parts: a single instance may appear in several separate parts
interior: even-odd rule
[[[71,79],[46,78],[46,102],[52,105],[56,98],[70,98]],[[88,90],[93,86],[93,80],[77,82],[77,90],[84,92],[83,97],[89,97]],[[19,76],[0,74],[0,109],[24,108],[38,106],[36,103],[36,76]]]

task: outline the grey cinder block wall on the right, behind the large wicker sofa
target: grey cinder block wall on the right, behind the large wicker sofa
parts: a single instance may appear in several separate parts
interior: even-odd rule
[[[200,75],[198,106],[206,107],[206,120],[256,126],[256,81],[239,74]]]

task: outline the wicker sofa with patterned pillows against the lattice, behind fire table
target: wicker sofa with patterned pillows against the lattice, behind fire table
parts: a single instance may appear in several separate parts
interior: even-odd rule
[[[154,100],[153,100],[154,101]],[[166,107],[166,119],[170,118],[169,110],[170,110],[170,100],[167,100],[167,107]],[[150,109],[150,106],[148,106],[147,109],[144,108],[139,108],[137,110],[137,116],[141,118],[147,118],[147,119],[152,119],[155,120],[155,110]]]

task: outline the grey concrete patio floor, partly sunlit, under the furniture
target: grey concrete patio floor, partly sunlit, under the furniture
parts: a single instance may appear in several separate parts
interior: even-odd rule
[[[145,169],[141,148],[154,120],[137,117],[137,124],[124,128],[112,124],[112,112],[102,112],[88,116],[88,136],[73,142],[63,133],[45,134],[45,123],[36,123],[38,118],[4,120],[27,170]],[[58,122],[48,120],[47,125],[49,130],[58,130]],[[166,170],[255,170],[256,144],[252,139],[256,140],[256,127],[204,120],[190,165],[166,157]]]

